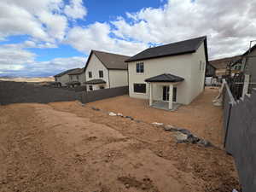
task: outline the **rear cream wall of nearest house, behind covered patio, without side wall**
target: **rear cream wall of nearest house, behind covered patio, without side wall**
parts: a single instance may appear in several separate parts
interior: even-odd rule
[[[191,54],[177,55],[162,57],[150,60],[139,61],[144,63],[144,73],[136,73],[137,61],[129,62],[129,95],[135,98],[148,99],[149,96],[149,84],[144,80],[160,75],[162,73],[172,73],[185,79],[182,83],[178,84],[177,88],[177,102],[183,104],[189,104],[189,87],[191,86]],[[146,84],[146,93],[135,93],[133,91],[133,84]],[[153,98],[154,100],[160,99],[162,94],[162,86],[154,85]]]

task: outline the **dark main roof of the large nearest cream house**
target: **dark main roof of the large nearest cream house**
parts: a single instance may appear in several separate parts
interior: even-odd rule
[[[191,38],[189,40],[180,41],[177,43],[165,44],[154,48],[148,48],[138,53],[137,55],[131,56],[131,58],[129,58],[126,61],[140,61],[163,56],[194,53],[203,42],[205,43],[206,56],[208,61],[207,36],[203,36],[200,38]]]

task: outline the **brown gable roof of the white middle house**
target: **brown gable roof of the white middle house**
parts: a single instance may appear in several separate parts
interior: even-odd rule
[[[108,69],[127,70],[127,63],[125,63],[125,60],[130,58],[130,56],[107,53],[99,50],[91,50],[85,64],[84,71],[88,66],[92,54],[95,54],[96,57],[102,61],[102,64]]]

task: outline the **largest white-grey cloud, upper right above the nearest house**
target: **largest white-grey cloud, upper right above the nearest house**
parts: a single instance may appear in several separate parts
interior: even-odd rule
[[[172,0],[113,20],[119,38],[168,44],[207,35],[210,57],[241,54],[256,38],[256,2],[251,0]]]

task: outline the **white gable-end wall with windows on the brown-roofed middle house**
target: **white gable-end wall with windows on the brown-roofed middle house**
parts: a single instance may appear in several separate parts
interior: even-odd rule
[[[103,78],[99,77],[99,71],[103,71]],[[89,72],[92,73],[92,78],[89,78]],[[88,63],[88,66],[85,70],[85,79],[86,81],[92,80],[92,79],[103,79],[106,81],[106,84],[104,84],[104,87],[107,89],[109,88],[109,80],[108,80],[108,69],[102,64],[102,61],[100,61],[95,54],[91,55],[90,61]],[[86,85],[87,90],[89,90],[89,84]],[[94,90],[99,90],[99,85],[93,85]]]

